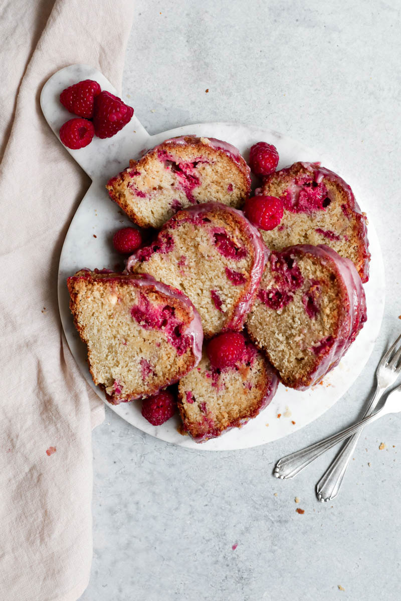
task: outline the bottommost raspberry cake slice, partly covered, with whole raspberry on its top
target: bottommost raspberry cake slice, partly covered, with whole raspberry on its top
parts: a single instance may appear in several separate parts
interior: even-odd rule
[[[249,341],[233,367],[216,369],[204,350],[200,364],[179,383],[178,407],[196,442],[240,427],[270,403],[278,377],[265,356]]]

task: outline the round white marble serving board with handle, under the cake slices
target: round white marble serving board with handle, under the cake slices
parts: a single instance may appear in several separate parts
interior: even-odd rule
[[[72,118],[59,102],[60,92],[82,79],[94,79],[99,82],[102,90],[116,93],[102,73],[85,65],[72,65],[55,73],[43,87],[40,104],[47,123],[58,139],[60,139],[58,132],[61,125]],[[91,379],[86,361],[86,349],[73,325],[66,279],[82,267],[101,269],[102,267],[113,268],[115,264],[121,264],[121,257],[112,248],[112,235],[119,228],[130,225],[130,221],[123,215],[117,204],[110,200],[105,189],[108,179],[126,168],[129,159],[138,158],[145,150],[164,139],[191,133],[230,142],[239,148],[245,159],[248,158],[251,145],[259,141],[270,142],[277,147],[280,154],[278,168],[283,168],[297,160],[320,160],[322,165],[336,171],[329,157],[321,154],[317,156],[304,144],[269,129],[245,126],[240,123],[197,123],[150,136],[134,115],[130,123],[113,138],[102,140],[95,137],[90,145],[80,150],[66,148],[66,152],[69,152],[90,176],[92,184],[75,213],[61,252],[58,271],[60,316],[69,347],[82,376],[104,401],[103,392],[94,386]],[[361,209],[369,215],[369,202],[372,203],[373,199],[368,197],[367,191],[362,186],[358,187],[356,178],[349,183],[354,189]],[[297,392],[280,384],[271,404],[259,416],[251,419],[241,429],[230,430],[220,438],[203,444],[195,443],[189,436],[180,435],[177,430],[180,423],[178,416],[174,416],[162,426],[152,426],[141,415],[140,401],[121,403],[118,406],[109,405],[109,407],[143,432],[182,447],[204,451],[234,450],[266,444],[287,436],[317,419],[347,391],[361,373],[381,327],[385,298],[384,266],[376,230],[370,219],[368,234],[372,261],[370,280],[364,286],[367,299],[367,323],[346,356],[325,377],[322,385],[314,386],[305,392]],[[278,414],[281,414],[279,419]]]

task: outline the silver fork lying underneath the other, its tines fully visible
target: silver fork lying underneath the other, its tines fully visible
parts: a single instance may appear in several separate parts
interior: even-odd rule
[[[364,417],[372,415],[384,392],[396,381],[401,371],[400,356],[401,336],[399,336],[393,346],[388,349],[378,365],[376,370],[376,391],[370,398]],[[341,448],[340,453],[338,453],[337,457],[335,457],[322,478],[320,478],[319,482],[316,484],[316,495],[319,501],[331,501],[331,499],[335,499],[338,495],[361,432],[362,430],[347,440],[343,448]]]

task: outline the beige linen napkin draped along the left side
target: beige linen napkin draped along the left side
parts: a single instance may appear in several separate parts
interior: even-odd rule
[[[39,96],[72,63],[121,89],[132,13],[132,0],[2,2],[1,601],[75,601],[88,584],[91,427],[104,409],[63,340],[57,269],[89,180]]]

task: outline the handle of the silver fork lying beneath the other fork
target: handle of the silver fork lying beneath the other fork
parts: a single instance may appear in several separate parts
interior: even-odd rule
[[[375,407],[378,404],[383,392],[384,388],[381,388],[379,385],[377,385],[376,391],[373,394],[369,405],[367,406],[366,412],[364,413],[364,417],[367,415],[372,415],[373,410],[375,410]],[[361,432],[362,429],[346,441],[343,448],[341,448],[340,453],[338,453],[337,457],[335,457],[335,459],[331,462],[329,468],[326,469],[325,473],[322,475],[322,478],[320,478],[319,482],[316,484],[316,495],[319,501],[331,501],[331,499],[335,499],[335,497],[338,495],[352,454],[354,453],[355,447],[358,444],[358,439],[361,436]]]

